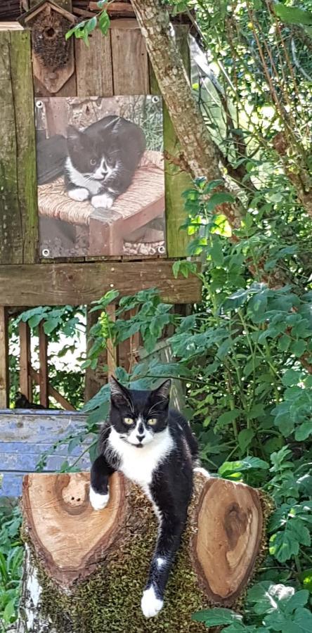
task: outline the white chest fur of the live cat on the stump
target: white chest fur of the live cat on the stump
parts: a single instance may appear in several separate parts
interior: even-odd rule
[[[119,471],[131,481],[140,485],[148,493],[152,475],[157,466],[167,457],[174,447],[169,429],[155,435],[150,444],[137,448],[124,442],[115,429],[110,431],[108,440],[110,447],[120,459]]]

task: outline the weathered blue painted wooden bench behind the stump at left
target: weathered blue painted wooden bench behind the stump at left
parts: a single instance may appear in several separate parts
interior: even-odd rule
[[[0,410],[0,473],[3,475],[0,497],[19,497],[22,478],[34,473],[44,452],[49,456],[44,472],[57,472],[67,459],[72,464],[89,445],[75,447],[68,454],[68,445],[60,444],[55,451],[53,445],[68,435],[77,435],[84,430],[86,416],[79,411],[41,411],[25,409]],[[89,470],[87,452],[79,468]]]

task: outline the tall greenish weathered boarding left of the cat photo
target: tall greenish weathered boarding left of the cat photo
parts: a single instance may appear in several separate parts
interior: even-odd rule
[[[0,31],[0,264],[32,263],[38,215],[30,33]]]

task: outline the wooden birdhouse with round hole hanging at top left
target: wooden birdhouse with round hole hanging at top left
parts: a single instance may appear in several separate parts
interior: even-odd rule
[[[65,34],[75,23],[69,11],[50,0],[41,0],[20,23],[32,30],[34,77],[48,94],[56,94],[74,73],[74,45]]]

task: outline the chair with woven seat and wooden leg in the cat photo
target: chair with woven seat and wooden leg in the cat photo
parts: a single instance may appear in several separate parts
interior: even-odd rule
[[[63,178],[38,188],[39,215],[84,226],[89,255],[122,255],[124,239],[164,213],[164,161],[161,152],[145,151],[131,186],[109,210],[67,196]]]

